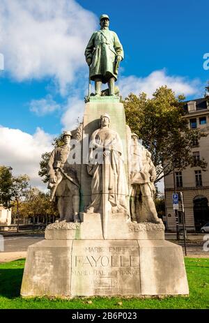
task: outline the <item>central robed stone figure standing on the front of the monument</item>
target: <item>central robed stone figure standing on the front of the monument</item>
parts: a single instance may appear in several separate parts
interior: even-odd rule
[[[102,193],[107,196],[111,212],[126,211],[127,183],[125,178],[123,146],[116,131],[109,128],[110,117],[100,117],[100,128],[91,135],[88,174],[91,181],[91,204],[88,213],[100,211]]]

